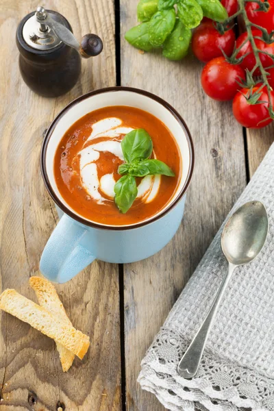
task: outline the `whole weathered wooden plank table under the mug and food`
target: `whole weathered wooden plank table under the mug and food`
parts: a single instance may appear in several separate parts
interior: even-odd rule
[[[58,292],[71,321],[90,335],[88,355],[62,373],[53,340],[3,313],[0,333],[1,411],[162,411],[140,390],[140,361],[251,175],[273,142],[273,127],[245,130],[230,103],[201,90],[201,64],[189,56],[169,62],[125,42],[136,24],[137,0],[46,0],[64,14],[75,36],[95,32],[103,53],[83,62],[82,77],[63,97],[45,99],[18,71],[16,27],[38,5],[1,0],[0,38],[0,274],[1,290],[34,299],[28,279],[38,274],[42,249],[57,223],[39,166],[42,134],[75,97],[123,85],[149,90],[184,116],[195,142],[196,167],[183,223],[157,255],[135,264],[95,261]]]

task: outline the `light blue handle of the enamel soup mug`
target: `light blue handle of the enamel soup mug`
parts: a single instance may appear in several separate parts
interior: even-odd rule
[[[95,260],[81,241],[88,230],[63,214],[42,252],[40,271],[50,281],[69,281]]]

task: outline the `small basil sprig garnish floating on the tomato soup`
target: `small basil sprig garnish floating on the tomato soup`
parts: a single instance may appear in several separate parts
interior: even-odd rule
[[[153,144],[151,137],[144,129],[135,129],[125,135],[121,142],[125,163],[119,166],[118,172],[123,175],[114,186],[114,201],[116,206],[125,214],[137,197],[135,177],[145,175],[169,175],[174,177],[173,171],[160,160],[149,157],[152,154]]]

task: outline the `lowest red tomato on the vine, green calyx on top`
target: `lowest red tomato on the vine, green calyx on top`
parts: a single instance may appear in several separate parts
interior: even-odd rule
[[[258,90],[262,84],[258,84],[253,87],[253,91]],[[250,104],[245,96],[249,96],[250,89],[242,88],[237,92],[233,100],[233,114],[236,120],[243,127],[251,128],[262,128],[272,122],[272,119],[269,116],[269,96],[267,94],[266,87],[262,88],[262,95],[259,98],[259,101],[266,101],[266,103],[260,104]],[[244,95],[242,95],[244,94]],[[271,103],[274,105],[274,92],[271,91]]]

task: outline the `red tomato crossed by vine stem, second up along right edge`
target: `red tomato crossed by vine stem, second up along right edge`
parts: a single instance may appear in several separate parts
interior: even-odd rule
[[[261,32],[258,29],[254,29],[252,30],[253,36],[260,36]],[[237,38],[236,40],[236,47],[240,47],[242,45],[243,42],[245,42],[247,38],[247,33],[242,33],[240,35],[240,37]],[[261,51],[267,51],[268,53],[274,53],[274,45],[267,45],[264,41],[259,40],[258,38],[255,39],[256,42],[256,46],[258,47],[259,50]],[[251,71],[254,67],[254,65],[256,64],[256,59],[255,59],[255,55],[252,51],[252,47],[250,42],[246,42],[245,45],[243,45],[240,49],[240,51],[238,52],[238,54],[236,55],[237,58],[242,57],[242,55],[245,55],[249,53],[249,55],[247,55],[244,60],[242,60],[242,63],[240,63],[240,65],[242,66],[243,69],[248,69],[249,71]],[[262,54],[260,53],[260,60],[262,62],[262,66],[264,67],[268,67],[268,66],[272,66],[273,65],[273,60],[269,55],[266,54]],[[260,69],[256,69],[256,71],[254,72],[255,75],[260,75]]]

